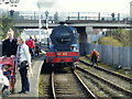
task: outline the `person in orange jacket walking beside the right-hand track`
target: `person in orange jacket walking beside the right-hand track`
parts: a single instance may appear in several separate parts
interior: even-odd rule
[[[99,53],[94,50],[91,53],[90,53],[90,59],[92,62],[92,66],[95,65],[95,63],[97,64],[98,66],[98,61],[99,61]]]

